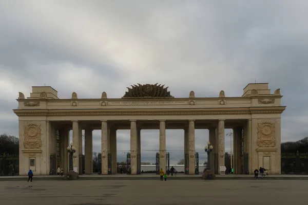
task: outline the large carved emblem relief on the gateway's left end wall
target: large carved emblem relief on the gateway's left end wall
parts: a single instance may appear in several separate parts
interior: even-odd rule
[[[24,127],[24,148],[33,149],[42,146],[42,128],[40,124],[29,123]]]

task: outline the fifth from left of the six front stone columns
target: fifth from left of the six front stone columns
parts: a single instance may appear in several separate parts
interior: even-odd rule
[[[195,120],[188,123],[189,174],[195,174]]]

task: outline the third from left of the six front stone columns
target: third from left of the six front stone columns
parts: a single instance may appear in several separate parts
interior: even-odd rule
[[[130,168],[131,174],[137,174],[137,121],[130,120]]]

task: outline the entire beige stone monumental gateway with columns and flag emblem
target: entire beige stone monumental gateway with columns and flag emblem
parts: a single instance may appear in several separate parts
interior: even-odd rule
[[[262,166],[272,174],[280,174],[280,118],[285,106],[277,89],[268,83],[248,84],[242,97],[174,98],[160,85],[132,86],[121,99],[109,99],[103,92],[98,99],[59,99],[52,87],[32,87],[29,98],[20,92],[19,120],[20,174],[32,169],[46,175],[64,167],[68,171],[69,131],[72,131],[76,153],[73,166],[82,167],[82,130],[85,131],[85,172],[93,173],[92,131],[100,129],[102,174],[117,170],[117,129],[130,129],[131,172],[140,171],[140,130],[159,129],[160,167],[166,167],[166,129],[184,129],[184,156],[189,174],[195,174],[195,129],[209,129],[214,145],[211,167],[224,165],[225,128],[234,131],[234,171],[252,173]],[[111,156],[111,162],[108,160]],[[108,164],[109,162],[109,164]]]

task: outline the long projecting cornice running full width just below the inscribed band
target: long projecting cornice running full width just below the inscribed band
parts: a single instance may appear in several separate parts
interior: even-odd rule
[[[251,115],[281,114],[285,106],[247,108],[196,108],[196,109],[81,109],[81,110],[33,110],[14,109],[17,116],[174,116],[174,115]]]

